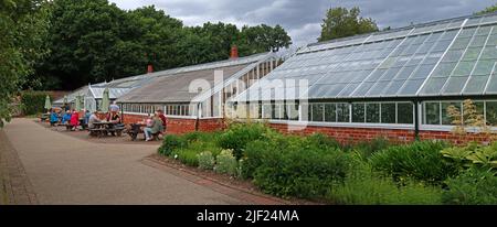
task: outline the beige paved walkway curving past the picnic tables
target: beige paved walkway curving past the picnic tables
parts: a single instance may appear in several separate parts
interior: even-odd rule
[[[253,204],[257,201],[229,188],[216,190],[219,185],[209,187],[192,182],[167,167],[144,164],[144,158],[156,152],[157,145],[93,143],[43,128],[31,119],[13,119],[0,133],[4,133],[3,140],[8,139],[17,151],[22,162],[17,167],[25,170],[28,185],[32,184],[33,188],[24,194],[34,191],[35,203]],[[226,191],[232,194],[223,193]]]

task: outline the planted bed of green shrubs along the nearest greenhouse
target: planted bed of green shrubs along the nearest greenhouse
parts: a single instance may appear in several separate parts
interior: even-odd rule
[[[159,154],[252,181],[284,198],[330,204],[497,203],[497,144],[399,145],[377,139],[351,145],[322,134],[296,137],[263,123],[236,123],[223,132],[167,136]]]

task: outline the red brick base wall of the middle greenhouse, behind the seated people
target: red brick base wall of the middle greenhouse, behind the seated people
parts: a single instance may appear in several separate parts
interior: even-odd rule
[[[124,115],[124,123],[134,123],[142,121],[147,116]],[[224,120],[222,118],[200,119],[199,131],[218,131],[224,129]],[[167,117],[167,132],[173,134],[183,134],[195,131],[195,119]]]

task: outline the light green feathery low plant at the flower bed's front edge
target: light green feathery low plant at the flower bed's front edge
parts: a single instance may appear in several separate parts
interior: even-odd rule
[[[327,199],[335,204],[348,205],[417,205],[441,204],[442,190],[406,181],[400,186],[391,177],[371,172],[370,169],[356,170],[341,183],[336,183]]]

